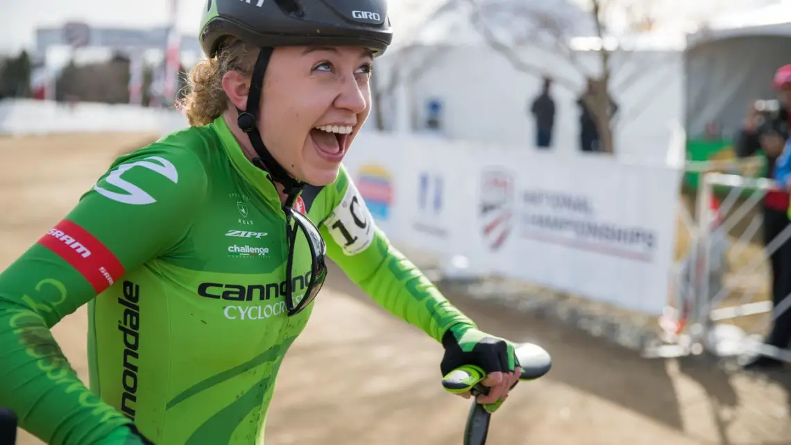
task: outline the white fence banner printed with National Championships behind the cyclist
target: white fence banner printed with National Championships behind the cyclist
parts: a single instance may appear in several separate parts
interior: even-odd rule
[[[668,302],[678,169],[373,133],[345,164],[399,244],[645,314]]]

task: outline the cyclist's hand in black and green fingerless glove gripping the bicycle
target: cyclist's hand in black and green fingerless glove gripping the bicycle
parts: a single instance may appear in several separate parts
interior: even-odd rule
[[[521,368],[513,344],[507,340],[479,331],[475,326],[454,325],[442,337],[442,346],[445,347],[440,363],[443,376],[464,365],[475,365],[486,372],[482,383],[489,387],[489,394],[479,395],[476,401],[490,413],[499,408],[509,390],[519,382]],[[469,391],[459,395],[471,396]]]

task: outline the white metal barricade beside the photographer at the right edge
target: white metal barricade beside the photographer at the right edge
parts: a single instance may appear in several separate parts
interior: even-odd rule
[[[706,202],[713,198],[713,190],[729,188],[723,200],[721,211],[729,214],[721,227],[725,234],[732,232],[734,226],[756,207],[766,191],[776,188],[774,181],[765,178],[750,178],[723,173],[705,173],[698,189],[698,256],[699,268],[694,289],[694,306],[691,311],[691,324],[688,333],[692,348],[705,348],[719,356],[741,356],[761,353],[791,362],[791,352],[763,344],[763,331],[791,307],[791,299],[773,308],[770,298],[770,272],[768,259],[781,245],[791,238],[791,225],[786,226],[766,246],[751,242],[751,238],[762,221],[755,215],[747,228],[732,243],[727,254],[730,271],[718,289],[712,289],[711,280],[702,279],[711,271],[712,259],[717,249],[717,237],[712,230],[711,214]],[[743,203],[736,205],[740,192],[750,194]],[[791,272],[791,271],[789,271]],[[759,321],[749,322],[748,317],[763,314]]]

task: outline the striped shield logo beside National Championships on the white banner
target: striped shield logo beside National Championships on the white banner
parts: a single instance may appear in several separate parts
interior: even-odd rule
[[[481,173],[479,219],[483,239],[492,250],[499,249],[513,230],[514,181],[507,169]]]

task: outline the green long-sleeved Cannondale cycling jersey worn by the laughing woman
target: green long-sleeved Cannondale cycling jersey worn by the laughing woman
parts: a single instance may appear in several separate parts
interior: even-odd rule
[[[295,208],[392,314],[437,341],[472,325],[388,243],[345,170]],[[118,158],[0,275],[0,405],[52,444],[131,422],[154,443],[263,443],[278,367],[321,299],[286,316],[285,229],[278,192],[222,118]],[[298,297],[307,243],[295,252]],[[49,332],[85,302],[90,389]]]

